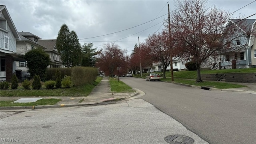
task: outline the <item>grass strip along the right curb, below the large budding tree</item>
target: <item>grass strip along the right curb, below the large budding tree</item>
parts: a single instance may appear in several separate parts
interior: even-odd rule
[[[162,78],[160,80],[164,82],[171,82],[171,78]],[[180,78],[174,78],[174,82],[181,83],[181,84],[189,84],[193,86],[206,86],[210,88],[220,88],[220,89],[246,87],[240,84],[227,84],[223,82],[209,82],[209,81],[195,82],[195,80],[186,80],[186,79],[180,79]]]

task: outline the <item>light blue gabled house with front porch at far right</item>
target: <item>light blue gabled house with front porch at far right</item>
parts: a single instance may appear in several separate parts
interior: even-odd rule
[[[250,68],[255,45],[252,29],[255,27],[256,19],[230,19],[227,26],[230,30],[230,42],[226,44],[226,51],[220,52],[212,61],[211,69]],[[229,40],[227,40],[229,41]],[[254,59],[256,62],[256,60]],[[254,62],[254,65],[255,65]]]

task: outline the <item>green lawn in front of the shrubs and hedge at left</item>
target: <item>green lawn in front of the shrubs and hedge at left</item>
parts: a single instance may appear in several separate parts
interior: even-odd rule
[[[58,88],[58,89],[40,89],[40,90],[25,90],[18,88],[16,90],[1,90],[1,96],[88,96],[94,87],[100,83],[102,77],[90,84],[76,86],[71,88]]]

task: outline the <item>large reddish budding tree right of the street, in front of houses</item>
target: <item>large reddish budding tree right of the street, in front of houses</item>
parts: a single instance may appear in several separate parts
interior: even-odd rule
[[[231,14],[216,7],[206,8],[204,0],[176,1],[176,6],[178,10],[173,12],[170,26],[184,59],[196,62],[196,82],[202,82],[201,64],[223,48],[220,36],[224,36],[223,28]]]

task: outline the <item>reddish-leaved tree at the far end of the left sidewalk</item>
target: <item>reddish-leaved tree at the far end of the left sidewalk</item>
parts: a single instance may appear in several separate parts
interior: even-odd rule
[[[124,67],[124,50],[115,43],[105,44],[104,50],[100,53],[97,66],[106,74],[112,77],[117,74],[117,67]]]

